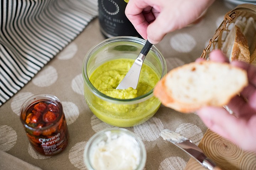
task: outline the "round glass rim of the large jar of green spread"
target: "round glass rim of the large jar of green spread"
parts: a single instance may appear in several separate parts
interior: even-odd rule
[[[84,79],[84,82],[87,83],[87,85],[89,86],[92,93],[94,93],[97,97],[99,97],[101,99],[104,99],[105,101],[112,102],[112,103],[135,104],[135,103],[138,103],[138,102],[143,102],[143,101],[153,97],[153,89],[151,89],[148,93],[140,95],[136,98],[117,99],[117,98],[112,98],[112,97],[109,97],[109,96],[101,93],[100,91],[98,91],[97,88],[95,88],[92,85],[92,83],[90,82],[89,77],[87,75],[87,72],[86,72],[87,63],[89,61],[89,58],[90,58],[91,54],[94,54],[99,48],[101,48],[104,45],[108,45],[109,43],[116,43],[116,42],[134,42],[134,43],[144,45],[146,40],[141,39],[141,38],[137,38],[137,37],[131,37],[131,36],[118,36],[118,37],[112,37],[112,38],[105,39],[102,42],[93,46],[87,52],[87,54],[84,58],[83,64],[82,64],[82,77]],[[156,56],[158,56],[158,59],[161,63],[162,73],[161,73],[160,78],[162,78],[162,77],[164,77],[164,75],[167,72],[165,59],[162,56],[161,52],[154,45],[151,47],[151,50],[156,54]]]

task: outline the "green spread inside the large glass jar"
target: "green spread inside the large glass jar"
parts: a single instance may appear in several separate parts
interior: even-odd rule
[[[152,117],[161,103],[153,95],[145,100],[129,100],[137,98],[151,91],[160,77],[145,63],[140,72],[137,89],[116,89],[129,71],[134,60],[116,59],[108,61],[92,72],[90,82],[101,93],[117,99],[127,101],[105,100],[93,94],[84,86],[85,98],[90,110],[103,122],[118,127],[139,125]]]

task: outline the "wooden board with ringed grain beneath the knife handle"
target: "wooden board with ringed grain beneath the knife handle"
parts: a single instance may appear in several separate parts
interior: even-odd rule
[[[222,170],[256,170],[256,153],[240,149],[209,129],[198,147]],[[191,158],[185,170],[205,170],[205,168]]]

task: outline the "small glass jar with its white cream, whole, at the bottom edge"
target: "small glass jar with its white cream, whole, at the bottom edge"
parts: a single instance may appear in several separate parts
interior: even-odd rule
[[[110,128],[93,135],[84,150],[88,170],[143,170],[146,149],[142,140],[124,128]]]

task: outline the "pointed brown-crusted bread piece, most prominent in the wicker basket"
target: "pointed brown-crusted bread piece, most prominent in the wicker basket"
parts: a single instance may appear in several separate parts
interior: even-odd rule
[[[250,62],[250,51],[247,39],[238,26],[234,26],[223,45],[223,52],[230,61],[240,60]]]

